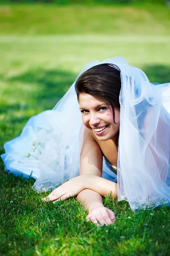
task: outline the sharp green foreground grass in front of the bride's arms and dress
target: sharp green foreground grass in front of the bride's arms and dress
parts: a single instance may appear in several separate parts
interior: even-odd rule
[[[33,182],[1,175],[1,255],[168,255],[170,212],[166,207],[133,213],[127,203],[105,198],[116,223],[85,221],[76,199],[41,201]],[[42,195],[43,196],[43,195]]]

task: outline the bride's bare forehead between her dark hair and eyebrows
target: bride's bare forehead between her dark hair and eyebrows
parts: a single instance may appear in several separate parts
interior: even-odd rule
[[[101,104],[107,104],[102,99],[96,98],[88,93],[80,93],[79,94],[79,106],[80,108],[89,108],[89,107],[96,107]]]

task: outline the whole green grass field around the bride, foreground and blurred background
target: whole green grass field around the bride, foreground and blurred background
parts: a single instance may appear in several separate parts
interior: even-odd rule
[[[0,153],[28,118],[51,109],[82,67],[116,55],[150,81],[170,81],[170,9],[164,6],[0,6]],[[133,213],[104,198],[116,223],[85,222],[76,198],[42,203],[33,180],[0,162],[0,254],[169,255],[170,209]],[[129,217],[129,218],[128,218]]]

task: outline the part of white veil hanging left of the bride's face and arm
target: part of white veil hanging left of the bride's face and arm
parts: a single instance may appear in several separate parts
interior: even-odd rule
[[[86,65],[79,76],[97,64],[100,62],[93,61]],[[51,121],[48,121],[45,128],[37,133],[40,177],[33,186],[37,192],[55,189],[66,180],[79,175],[84,126],[79,111],[75,82],[52,110]]]

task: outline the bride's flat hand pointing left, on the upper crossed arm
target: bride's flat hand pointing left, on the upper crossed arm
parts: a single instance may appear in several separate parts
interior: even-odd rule
[[[85,189],[86,176],[80,175],[63,183],[57,189],[54,189],[43,201],[63,201],[69,197],[78,195]]]

